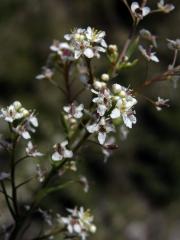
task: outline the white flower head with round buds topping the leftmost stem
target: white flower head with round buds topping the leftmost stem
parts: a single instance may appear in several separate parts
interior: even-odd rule
[[[6,122],[12,123],[17,119],[22,119],[29,113],[25,108],[22,108],[22,104],[19,101],[15,101],[7,108],[2,108],[0,111],[0,118],[3,118]]]

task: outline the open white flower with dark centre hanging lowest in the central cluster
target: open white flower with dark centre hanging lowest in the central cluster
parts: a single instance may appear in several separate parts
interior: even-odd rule
[[[98,141],[101,145],[103,145],[106,140],[107,133],[114,131],[114,128],[104,117],[102,117],[97,123],[88,125],[87,131],[89,133],[98,133]]]

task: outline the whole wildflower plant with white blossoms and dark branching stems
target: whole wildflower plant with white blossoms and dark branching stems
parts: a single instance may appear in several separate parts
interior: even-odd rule
[[[67,215],[54,214],[48,209],[40,209],[45,197],[53,192],[60,191],[69,184],[81,184],[87,192],[89,184],[86,177],[73,179],[57,185],[52,184],[52,179],[61,178],[68,170],[76,171],[78,155],[84,143],[97,144],[104,154],[104,159],[110,157],[118,148],[117,135],[127,137],[130,130],[137,122],[136,106],[140,101],[141,90],[158,81],[168,81],[174,76],[179,76],[180,66],[177,65],[177,57],[180,50],[180,40],[170,40],[167,36],[167,45],[174,52],[172,63],[162,74],[155,74],[151,79],[145,79],[137,89],[132,86],[124,86],[118,75],[122,69],[136,67],[139,64],[135,53],[140,52],[147,64],[158,64],[156,56],[158,41],[149,30],[137,31],[138,25],[145,17],[154,13],[169,13],[174,6],[160,0],[157,9],[147,6],[147,1],[141,4],[133,2],[131,5],[123,0],[132,17],[132,30],[124,47],[119,50],[115,44],[106,43],[106,33],[91,27],[76,28],[64,36],[62,42],[55,40],[50,46],[50,54],[46,66],[36,79],[48,81],[56,87],[64,96],[64,106],[60,109],[62,126],[64,127],[64,139],[54,142],[49,146],[48,153],[41,153],[34,145],[33,138],[38,128],[37,113],[28,110],[19,101],[13,102],[8,107],[2,107],[0,111],[1,121],[7,123],[9,137],[0,139],[0,147],[10,158],[10,166],[7,172],[0,172],[0,193],[4,195],[7,208],[12,216],[12,221],[1,233],[6,239],[23,239],[30,227],[34,213],[39,212],[43,221],[48,223],[48,229],[37,236],[29,236],[28,240],[52,239],[60,235],[62,239],[86,240],[90,234],[96,232],[94,218],[91,211],[84,207],[75,206],[67,209]],[[146,43],[147,47],[143,47]],[[148,45],[147,45],[148,44]],[[156,49],[154,51],[153,49]],[[93,68],[94,58],[106,58],[108,68],[100,76]],[[77,81],[82,88],[72,92],[72,79],[74,69]],[[57,81],[56,76],[62,74],[64,84]],[[116,77],[116,78],[115,78]],[[82,80],[83,79],[83,80]],[[114,82],[114,79],[118,79]],[[74,80],[75,81],[75,80]],[[90,95],[89,102],[81,102],[79,97],[87,92]],[[169,100],[157,97],[157,100],[144,96],[155,109],[162,110],[169,106]],[[156,99],[156,96],[155,96]],[[20,143],[24,143],[24,155],[19,156]],[[39,181],[39,189],[36,191],[26,211],[20,209],[18,190],[31,179],[17,182],[19,163],[26,159],[44,158],[49,156],[50,169],[43,169],[41,164],[36,164],[35,178]],[[34,179],[34,177],[32,177]],[[10,189],[10,191],[8,190]]]

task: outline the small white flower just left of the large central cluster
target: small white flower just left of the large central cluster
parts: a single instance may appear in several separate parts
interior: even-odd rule
[[[68,106],[65,106],[64,111],[68,114],[68,118],[79,119],[83,116],[84,105],[80,104],[78,106],[75,103],[71,103]]]

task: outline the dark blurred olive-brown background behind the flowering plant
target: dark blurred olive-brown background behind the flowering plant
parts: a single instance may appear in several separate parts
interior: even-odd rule
[[[129,1],[131,3],[131,1]],[[158,1],[148,1],[156,7]],[[180,37],[180,3],[172,13],[147,17],[139,26],[158,36],[160,64],[149,67],[149,77],[171,63],[173,53],[166,39]],[[40,128],[34,141],[43,151],[62,138],[60,109],[63,96],[41,72],[54,39],[74,27],[92,26],[107,33],[107,42],[123,47],[131,18],[121,0],[1,0],[0,1],[0,107],[14,100],[39,113]],[[133,69],[122,71],[116,81],[138,86],[143,81],[143,58]],[[97,73],[106,71],[104,60]],[[89,193],[77,186],[49,196],[43,206],[53,211],[84,205],[92,209],[98,227],[94,240],[179,240],[180,239],[180,96],[178,82],[161,82],[143,94],[170,99],[170,108],[157,112],[143,98],[137,106],[137,124],[126,141],[105,164],[99,148],[82,149],[78,172],[90,182]],[[81,101],[85,96],[81,97]],[[4,126],[0,127],[4,131]],[[91,154],[89,154],[91,152]],[[0,155],[5,168],[3,153]],[[40,164],[44,164],[40,160]],[[19,178],[34,171],[32,162],[22,164]],[[36,185],[22,189],[22,204],[29,201]],[[6,210],[0,195],[0,222]],[[58,239],[58,238],[57,238]]]

